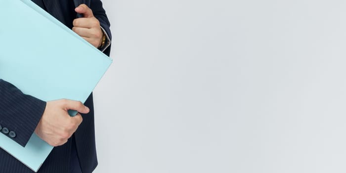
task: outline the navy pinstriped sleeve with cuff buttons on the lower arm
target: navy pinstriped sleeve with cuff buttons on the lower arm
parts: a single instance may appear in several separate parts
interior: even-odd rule
[[[45,109],[46,102],[26,95],[17,87],[0,79],[0,130],[21,146],[25,146],[34,133]],[[3,132],[15,132],[15,137]]]

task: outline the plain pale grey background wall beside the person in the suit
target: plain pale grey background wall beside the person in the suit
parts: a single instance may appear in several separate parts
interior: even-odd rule
[[[345,173],[345,0],[103,0],[95,173]]]

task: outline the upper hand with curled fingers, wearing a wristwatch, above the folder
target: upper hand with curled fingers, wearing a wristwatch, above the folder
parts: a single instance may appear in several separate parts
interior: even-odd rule
[[[103,37],[100,22],[94,17],[92,10],[86,4],[79,5],[75,11],[83,14],[84,17],[73,21],[74,27],[72,30],[87,42],[99,48]]]

